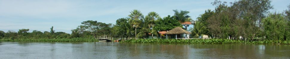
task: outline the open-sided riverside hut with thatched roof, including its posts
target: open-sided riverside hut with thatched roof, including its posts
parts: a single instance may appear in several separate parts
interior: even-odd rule
[[[184,29],[182,29],[181,27],[175,27],[172,30],[169,30],[165,33],[166,38],[169,35],[170,38],[189,38],[189,35],[191,34],[191,32],[188,32]]]

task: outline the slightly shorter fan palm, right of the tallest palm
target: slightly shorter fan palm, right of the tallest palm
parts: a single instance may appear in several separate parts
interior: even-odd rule
[[[145,20],[147,21],[149,28],[152,28],[152,30],[153,30],[153,27],[155,25],[155,20],[158,18],[161,18],[161,17],[156,12],[149,12],[148,13],[148,15],[145,17]],[[151,30],[151,34],[152,34],[152,30]],[[153,34],[152,34],[152,37],[153,37]]]

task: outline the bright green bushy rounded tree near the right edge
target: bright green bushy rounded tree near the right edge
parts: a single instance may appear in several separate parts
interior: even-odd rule
[[[286,20],[282,14],[269,14],[268,17],[263,19],[262,23],[266,39],[286,40],[284,38],[284,35],[286,35],[284,33],[286,30]]]

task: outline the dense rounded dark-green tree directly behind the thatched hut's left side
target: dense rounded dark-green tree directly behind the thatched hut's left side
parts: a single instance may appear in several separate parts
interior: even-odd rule
[[[164,17],[163,19],[157,19],[155,23],[156,24],[153,29],[157,31],[169,31],[175,27],[182,27],[181,24],[177,20],[173,19],[173,17],[170,17],[170,15]]]

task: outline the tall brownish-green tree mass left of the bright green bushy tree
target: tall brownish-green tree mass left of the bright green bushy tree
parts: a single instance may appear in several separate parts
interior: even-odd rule
[[[253,40],[254,37],[262,36],[261,21],[265,14],[273,7],[269,0],[241,0],[231,2],[227,6],[226,2],[214,1],[216,5],[210,17],[202,16],[200,19],[206,20],[206,27],[213,36],[220,38],[239,37]],[[202,20],[204,20],[202,19]]]

